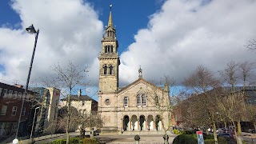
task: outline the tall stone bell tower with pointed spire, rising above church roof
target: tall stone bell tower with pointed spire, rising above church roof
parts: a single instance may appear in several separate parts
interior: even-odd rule
[[[110,17],[105,34],[102,37],[102,51],[98,55],[99,60],[99,92],[113,93],[118,90],[118,40],[112,22],[110,5]]]

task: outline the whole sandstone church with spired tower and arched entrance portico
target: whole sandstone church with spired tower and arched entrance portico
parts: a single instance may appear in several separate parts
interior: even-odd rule
[[[158,87],[142,78],[118,87],[118,40],[110,10],[109,22],[102,38],[99,60],[98,114],[104,122],[102,132],[162,131],[170,126],[168,86]]]

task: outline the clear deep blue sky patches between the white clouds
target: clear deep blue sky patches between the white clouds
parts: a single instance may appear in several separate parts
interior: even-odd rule
[[[136,34],[139,29],[147,27],[150,15],[159,10],[164,1],[87,0],[86,2],[90,2],[90,5],[98,12],[98,18],[104,23],[104,26],[106,26],[110,14],[110,4],[113,5],[114,26],[116,26],[118,30],[118,52],[121,54],[122,51],[126,50],[126,48],[134,42],[134,34]],[[19,23],[22,21],[17,12],[11,8],[11,3],[10,0],[2,0],[0,2],[0,26],[20,29],[22,27]],[[0,65],[0,67],[2,66]]]

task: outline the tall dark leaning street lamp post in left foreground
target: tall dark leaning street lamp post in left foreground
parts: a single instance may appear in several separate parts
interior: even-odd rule
[[[31,57],[31,61],[30,61],[30,69],[29,69],[29,73],[27,74],[27,78],[26,78],[26,88],[25,88],[25,92],[24,92],[25,93],[25,98],[26,98],[26,94],[27,94],[27,90],[28,90],[28,86],[29,86],[29,82],[30,82],[30,74],[31,74],[32,65],[33,65],[33,61],[34,61],[34,52],[35,52],[35,48],[36,48],[37,42],[38,42],[39,29],[35,30],[34,26],[32,24],[30,27],[26,28],[26,31],[29,34],[35,34],[35,39],[34,39],[34,49],[33,49],[32,57]],[[19,130],[19,126],[20,126],[20,123],[21,123],[21,119],[22,119],[22,111],[23,111],[25,98],[22,98],[22,108],[21,108],[21,112],[20,112],[19,118],[18,118],[18,126],[17,126],[15,139],[18,138],[18,130]]]

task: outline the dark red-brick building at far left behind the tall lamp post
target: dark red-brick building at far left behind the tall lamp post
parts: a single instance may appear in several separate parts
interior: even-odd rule
[[[30,127],[30,97],[32,91],[28,91],[25,98],[25,89],[20,85],[8,85],[0,82],[0,138],[6,138],[10,134],[15,134],[18,126],[18,118],[22,108],[22,118],[18,136],[29,133]]]

